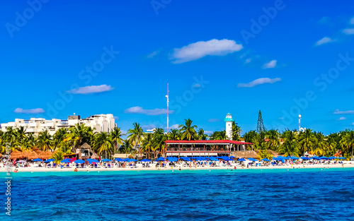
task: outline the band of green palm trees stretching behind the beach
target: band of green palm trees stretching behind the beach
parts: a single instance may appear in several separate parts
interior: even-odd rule
[[[312,131],[248,131],[241,136],[240,127],[232,123],[232,140],[253,143],[253,149],[261,150],[261,157],[269,157],[265,150],[274,150],[284,155],[300,156],[304,153],[330,157],[335,154],[343,157],[353,157],[354,131],[346,130],[324,136],[321,132]],[[126,138],[123,138],[126,136]],[[11,144],[11,150],[31,150],[33,147],[41,150],[51,150],[53,157],[75,153],[84,143],[91,145],[92,150],[101,157],[110,157],[114,153],[138,154],[147,157],[157,157],[164,153],[166,140],[226,140],[226,131],[215,131],[210,136],[203,129],[193,125],[193,121],[185,119],[178,129],[165,133],[164,129],[154,129],[153,133],[144,133],[138,123],[123,134],[115,127],[110,133],[96,132],[84,124],[76,124],[69,129],[59,129],[53,136],[49,131],[41,131],[38,136],[26,132],[25,127],[18,129],[8,127],[6,132],[0,131],[1,153],[6,151],[6,143]]]

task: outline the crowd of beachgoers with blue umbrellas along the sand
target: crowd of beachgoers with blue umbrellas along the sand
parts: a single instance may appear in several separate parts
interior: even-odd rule
[[[45,160],[40,159],[33,161],[19,160],[13,162],[13,167],[18,168],[25,167],[42,167],[46,169],[50,168],[74,168],[77,169],[90,169],[90,168],[148,168],[155,167],[156,169],[167,167],[178,168],[199,168],[199,167],[305,167],[306,165],[342,165],[343,159],[331,158],[331,157],[273,157],[272,159],[264,158],[257,160],[253,158],[236,158],[236,157],[159,157],[156,160],[135,160],[135,159],[121,159],[116,158],[114,160],[76,160],[76,159],[64,159],[59,163],[56,163],[52,159]],[[350,163],[350,162],[349,162]],[[2,164],[2,167],[5,165]]]

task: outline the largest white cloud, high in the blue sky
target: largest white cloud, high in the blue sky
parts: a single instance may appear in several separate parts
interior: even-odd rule
[[[224,56],[241,50],[242,44],[236,44],[234,40],[209,40],[207,42],[195,42],[182,48],[174,49],[173,63],[180,64],[187,61],[201,59],[207,55]]]

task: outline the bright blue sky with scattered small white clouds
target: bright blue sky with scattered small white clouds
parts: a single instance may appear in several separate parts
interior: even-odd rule
[[[166,127],[169,83],[170,126],[354,129],[352,1],[29,2],[1,2],[0,122]]]

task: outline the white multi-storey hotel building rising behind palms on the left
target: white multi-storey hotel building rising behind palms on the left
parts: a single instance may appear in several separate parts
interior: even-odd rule
[[[68,119],[64,120],[46,120],[44,118],[15,119],[14,122],[1,124],[1,131],[6,132],[6,129],[10,126],[13,129],[24,126],[27,133],[38,135],[40,131],[47,129],[50,135],[53,136],[58,129],[69,129],[74,127],[75,124],[85,124],[85,126],[90,126],[96,132],[110,132],[116,126],[113,114],[96,114],[84,119],[81,119],[80,115],[69,116]]]

